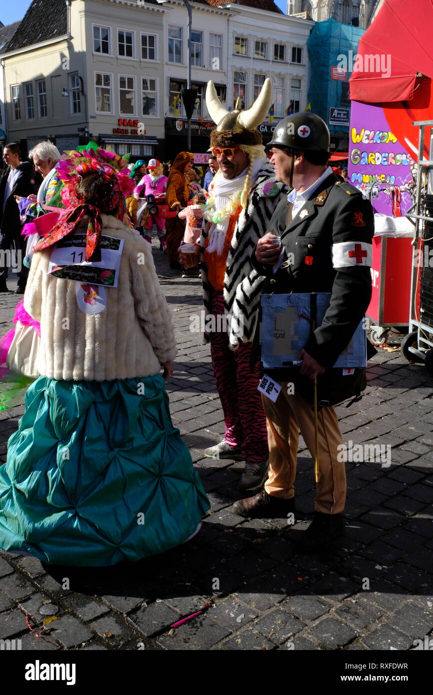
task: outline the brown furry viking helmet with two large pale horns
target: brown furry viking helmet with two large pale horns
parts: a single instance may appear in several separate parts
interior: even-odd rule
[[[238,100],[239,101],[239,100]],[[208,82],[206,88],[206,106],[216,129],[211,133],[211,147],[234,145],[261,145],[261,133],[256,127],[263,122],[272,101],[272,83],[265,79],[261,92],[254,104],[242,111],[236,102],[234,111],[227,111],[218,99],[215,85]]]

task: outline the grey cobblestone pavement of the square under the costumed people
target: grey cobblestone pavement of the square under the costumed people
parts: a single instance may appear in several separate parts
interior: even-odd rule
[[[345,539],[330,556],[299,553],[293,539],[313,510],[309,452],[299,452],[294,527],[234,514],[243,464],[201,453],[224,426],[209,347],[189,330],[190,315],[202,310],[199,280],[168,270],[156,247],[154,257],[179,345],[172,418],[211,512],[193,541],[137,564],[89,571],[0,553],[0,637],[21,639],[23,650],[414,648],[433,628],[433,379],[399,351],[379,349],[366,395],[338,415],[345,442],[389,445],[392,464],[348,463]],[[0,334],[16,300],[0,295]],[[22,411],[0,414],[1,461]],[[170,630],[206,601],[205,614]],[[45,626],[44,604],[58,609]]]

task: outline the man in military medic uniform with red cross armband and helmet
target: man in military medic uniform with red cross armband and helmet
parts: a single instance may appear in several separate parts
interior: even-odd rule
[[[310,379],[318,377],[319,383],[325,373],[338,371],[343,375],[343,370],[329,370],[348,347],[370,302],[374,232],[370,202],[350,183],[338,181],[327,166],[329,130],[320,117],[296,113],[284,118],[268,147],[277,181],[292,190],[275,208],[268,233],[259,239],[252,254],[254,268],[266,278],[263,293],[325,292],[331,293],[331,300],[321,325],[311,330],[300,352],[300,368],[279,370],[281,391],[276,402],[262,397],[270,449],[269,479],[261,493],[234,505],[237,514],[259,518],[287,516],[295,509],[299,430],[311,455],[315,453],[314,411],[301,395],[305,394],[302,380],[312,391]],[[281,247],[275,236],[281,237]],[[333,381],[327,379],[328,385]],[[294,393],[288,388],[292,382]],[[345,386],[350,379],[343,376],[340,382]],[[341,400],[332,398],[332,393],[328,394],[322,404]],[[341,432],[334,407],[321,407],[315,513],[313,523],[302,534],[302,541],[310,546],[322,546],[343,532],[346,480],[345,464],[338,460],[339,444]]]

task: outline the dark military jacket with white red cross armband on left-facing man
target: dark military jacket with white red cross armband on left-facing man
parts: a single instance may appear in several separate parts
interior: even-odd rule
[[[332,293],[329,308],[305,350],[322,366],[331,367],[350,343],[371,299],[370,265],[374,215],[370,202],[350,183],[330,174],[293,219],[283,199],[267,231],[281,236],[284,259],[272,265],[257,262],[265,276],[263,293]]]

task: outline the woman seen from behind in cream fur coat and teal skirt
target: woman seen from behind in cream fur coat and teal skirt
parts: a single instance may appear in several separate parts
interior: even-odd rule
[[[170,418],[170,311],[149,245],[120,222],[122,179],[95,160],[75,170],[77,205],[36,245],[24,295],[40,377],[0,466],[0,548],[42,562],[162,553],[209,509]]]

